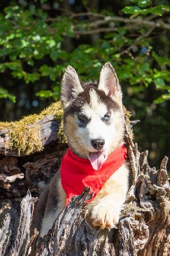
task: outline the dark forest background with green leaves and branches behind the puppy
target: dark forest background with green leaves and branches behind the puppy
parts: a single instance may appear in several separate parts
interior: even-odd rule
[[[141,120],[135,141],[158,168],[170,152],[169,10],[166,0],[1,1],[1,121],[59,100],[67,65],[94,80],[111,61],[132,120]]]

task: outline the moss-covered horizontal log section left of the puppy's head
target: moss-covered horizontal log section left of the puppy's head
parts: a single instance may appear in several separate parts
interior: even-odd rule
[[[39,115],[30,115],[18,122],[0,122],[0,153],[24,156],[40,152],[58,138],[66,143],[62,127],[61,102],[55,102]]]

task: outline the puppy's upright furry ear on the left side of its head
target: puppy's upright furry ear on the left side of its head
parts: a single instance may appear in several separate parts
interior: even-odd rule
[[[61,102],[63,106],[68,106],[69,101],[75,98],[79,93],[83,92],[84,89],[81,86],[79,76],[75,69],[71,66],[68,66],[63,75],[61,81]]]

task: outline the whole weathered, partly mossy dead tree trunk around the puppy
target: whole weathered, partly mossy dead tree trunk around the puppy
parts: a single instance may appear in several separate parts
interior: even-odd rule
[[[62,124],[57,115],[60,113],[61,116],[60,111],[61,108],[56,105],[52,114],[47,115],[46,111],[43,112],[44,115],[40,115],[41,118],[36,116],[34,123],[26,122],[22,137],[25,138],[27,134],[30,136],[32,133],[29,129],[37,126],[36,132],[40,134],[40,141],[35,140],[34,134],[35,145],[30,148],[29,141],[24,140],[26,143],[23,144],[22,141],[22,150],[13,143],[10,129],[14,129],[14,126],[6,124],[3,127],[0,124],[0,214],[3,219],[0,229],[0,255],[170,255],[167,157],[162,160],[160,170],[150,168],[148,152],[140,153],[137,144],[132,141],[127,111],[125,140],[131,164],[131,183],[118,228],[112,230],[112,238],[108,239],[105,234],[101,248],[102,231],[89,227],[86,222],[84,204],[91,196],[87,188],[82,195],[73,198],[68,207],[59,214],[52,230],[43,239],[38,237],[36,230],[30,233],[33,205],[36,202],[31,194],[38,195],[58,171],[61,157],[67,148],[66,143],[61,143]],[[26,196],[20,204],[24,195]]]

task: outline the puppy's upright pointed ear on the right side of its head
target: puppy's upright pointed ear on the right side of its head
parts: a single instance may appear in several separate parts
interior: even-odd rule
[[[121,100],[122,98],[119,80],[110,62],[105,63],[102,67],[98,89],[104,91],[112,99]]]

